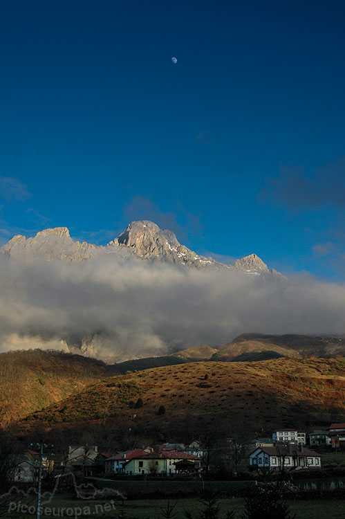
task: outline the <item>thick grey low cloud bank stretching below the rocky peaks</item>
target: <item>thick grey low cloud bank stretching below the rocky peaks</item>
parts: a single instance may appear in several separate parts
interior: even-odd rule
[[[0,255],[0,351],[82,351],[108,361],[221,345],[257,331],[345,334],[345,286],[136,258],[23,264]]]

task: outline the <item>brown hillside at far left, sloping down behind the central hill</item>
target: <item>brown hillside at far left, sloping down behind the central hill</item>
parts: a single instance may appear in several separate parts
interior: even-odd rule
[[[115,367],[80,355],[40,349],[0,354],[0,426],[80,392]]]

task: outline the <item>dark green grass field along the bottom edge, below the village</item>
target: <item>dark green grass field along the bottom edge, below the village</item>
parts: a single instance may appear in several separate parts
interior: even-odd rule
[[[170,503],[174,500],[170,500]],[[31,506],[35,505],[32,500],[30,502],[20,500],[19,497],[14,496],[12,504],[8,503],[6,511],[0,512],[1,518],[12,519],[28,519],[35,517],[35,511],[25,513],[22,507],[23,504]],[[345,501],[343,500],[299,500],[288,501],[290,509],[296,513],[297,519],[324,519],[331,517],[332,519],[344,519],[345,517]],[[52,502],[43,504],[41,518],[45,517],[74,517],[86,518],[92,517],[94,519],[100,518],[122,518],[126,519],[159,519],[164,518],[162,511],[167,505],[167,500],[129,500],[124,501],[122,508],[121,502],[111,502],[109,500],[77,500],[73,496],[56,495]],[[241,519],[243,513],[243,499],[222,499],[220,500],[221,514],[220,519],[225,516],[227,510],[236,510],[236,519]],[[54,509],[54,511],[53,511]],[[185,510],[196,511],[201,509],[201,504],[194,499],[181,499],[177,501],[174,512],[176,512],[175,519],[185,518]],[[277,518],[279,519],[279,518]]]

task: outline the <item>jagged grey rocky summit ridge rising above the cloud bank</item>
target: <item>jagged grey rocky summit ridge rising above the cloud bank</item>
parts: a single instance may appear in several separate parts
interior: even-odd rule
[[[142,260],[180,264],[198,269],[231,269],[249,275],[272,273],[256,254],[236,260],[232,265],[199,255],[180,244],[171,230],[162,230],[149,220],[132,221],[106,246],[74,241],[68,228],[56,227],[41,230],[31,238],[16,235],[0,249],[0,252],[25,262],[39,259],[81,262],[100,255],[116,253],[121,257],[134,255]]]

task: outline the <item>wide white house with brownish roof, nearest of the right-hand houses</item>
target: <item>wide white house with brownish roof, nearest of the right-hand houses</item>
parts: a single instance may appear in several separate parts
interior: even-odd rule
[[[282,470],[288,468],[321,468],[321,457],[314,450],[304,447],[281,446],[258,447],[249,459],[251,468]]]

